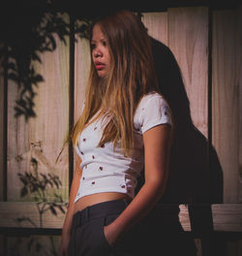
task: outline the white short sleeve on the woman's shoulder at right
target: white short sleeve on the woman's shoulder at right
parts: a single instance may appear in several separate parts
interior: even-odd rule
[[[140,132],[143,134],[149,129],[160,125],[172,125],[172,118],[166,100],[158,93],[144,96],[137,108],[137,122]]]

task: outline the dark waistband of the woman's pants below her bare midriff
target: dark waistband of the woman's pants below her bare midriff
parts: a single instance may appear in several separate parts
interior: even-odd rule
[[[73,217],[73,225],[82,225],[91,219],[105,217],[108,214],[120,214],[130,204],[130,200],[112,200],[99,203],[77,211]]]

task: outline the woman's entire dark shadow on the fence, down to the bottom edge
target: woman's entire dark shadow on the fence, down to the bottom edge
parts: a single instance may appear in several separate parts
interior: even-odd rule
[[[189,99],[174,55],[169,48],[153,38],[152,44],[160,90],[173,113],[176,131],[170,154],[166,193],[142,221],[138,234],[142,234],[141,238],[149,234],[148,240],[143,240],[143,243],[150,242],[149,248],[155,248],[154,251],[166,255],[196,256],[196,237],[201,239],[202,253],[211,253],[216,248],[215,245],[211,246],[214,240],[208,242],[207,239],[210,238],[207,234],[213,231],[209,204],[223,202],[222,168],[215,149],[209,149],[208,140],[193,124]],[[144,177],[141,176],[136,192],[143,181]],[[184,232],[181,226],[180,204],[188,205],[191,233]],[[139,246],[142,250],[142,246]]]

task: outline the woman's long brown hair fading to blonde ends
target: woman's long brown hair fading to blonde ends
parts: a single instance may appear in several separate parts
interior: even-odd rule
[[[73,144],[79,134],[99,110],[100,117],[109,114],[103,136],[98,146],[120,142],[129,155],[134,147],[134,114],[144,94],[158,91],[151,40],[140,18],[130,11],[119,11],[97,19],[91,28],[99,24],[107,41],[110,69],[106,78],[98,77],[91,61],[89,79],[85,91],[85,106],[72,133]]]

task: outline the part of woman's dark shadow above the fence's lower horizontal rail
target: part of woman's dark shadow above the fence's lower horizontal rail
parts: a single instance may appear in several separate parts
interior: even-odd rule
[[[152,43],[161,92],[176,122],[168,184],[162,202],[222,203],[222,167],[214,147],[208,151],[208,140],[193,124],[179,66],[169,48],[153,38]]]

